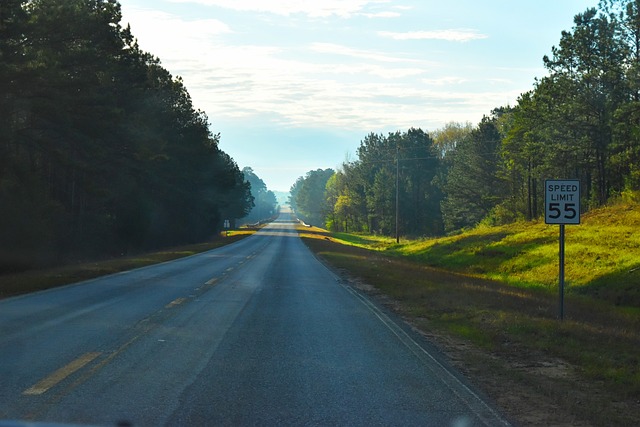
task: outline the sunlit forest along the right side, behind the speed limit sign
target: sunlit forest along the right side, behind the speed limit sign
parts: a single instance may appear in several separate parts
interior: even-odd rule
[[[640,190],[640,0],[576,15],[543,62],[475,126],[367,135],[357,160],[300,177],[292,206],[331,230],[434,236],[540,218],[545,179],[579,179],[583,210]]]

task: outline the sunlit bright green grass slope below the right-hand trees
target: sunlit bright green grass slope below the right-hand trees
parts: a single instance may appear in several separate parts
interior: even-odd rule
[[[334,240],[403,257],[422,265],[553,290],[558,284],[559,227],[520,222],[480,226],[463,234],[402,240],[335,233]],[[567,292],[640,307],[640,206],[620,204],[566,227]]]

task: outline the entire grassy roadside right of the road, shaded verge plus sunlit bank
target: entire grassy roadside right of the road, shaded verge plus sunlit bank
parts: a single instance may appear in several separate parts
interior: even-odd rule
[[[563,322],[558,226],[481,226],[400,244],[301,233],[330,264],[390,297],[522,425],[637,424],[640,206],[595,210],[566,230]]]

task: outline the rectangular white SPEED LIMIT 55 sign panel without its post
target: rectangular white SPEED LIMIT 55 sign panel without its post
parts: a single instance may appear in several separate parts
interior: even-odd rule
[[[580,181],[548,179],[544,188],[544,222],[580,224]]]

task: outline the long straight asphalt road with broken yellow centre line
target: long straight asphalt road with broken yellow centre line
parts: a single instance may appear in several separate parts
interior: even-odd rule
[[[0,420],[508,425],[288,214],[221,249],[0,301]]]

